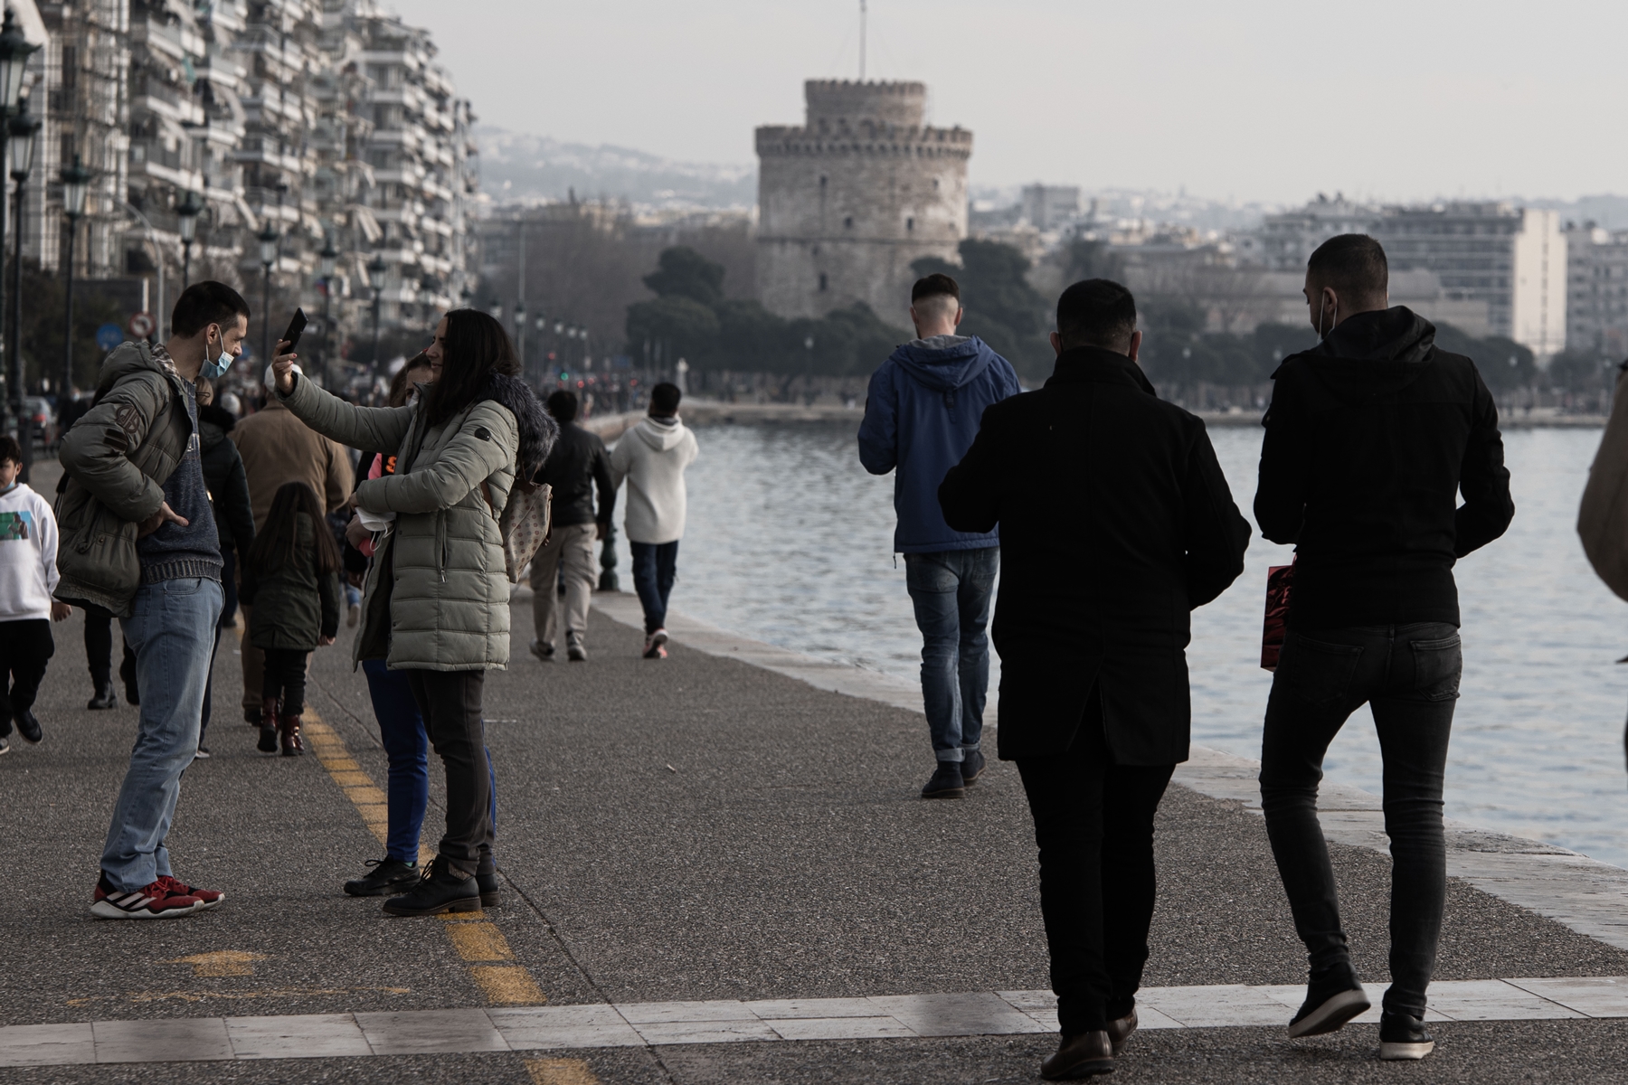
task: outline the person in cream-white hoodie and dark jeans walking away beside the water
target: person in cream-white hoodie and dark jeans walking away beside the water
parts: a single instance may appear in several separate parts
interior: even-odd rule
[[[633,589],[645,607],[645,659],[667,657],[667,595],[679,566],[684,537],[684,468],[700,451],[695,434],[679,421],[676,384],[650,390],[650,416],[622,434],[610,454],[610,473],[620,488],[627,478],[627,529],[633,548]]]

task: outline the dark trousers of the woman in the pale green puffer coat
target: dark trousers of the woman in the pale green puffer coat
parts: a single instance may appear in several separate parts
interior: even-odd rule
[[[464,874],[490,874],[492,763],[480,719],[484,670],[407,670],[430,745],[446,768],[446,833],[441,857]]]

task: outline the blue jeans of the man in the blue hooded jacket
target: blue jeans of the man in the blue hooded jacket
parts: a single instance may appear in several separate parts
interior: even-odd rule
[[[990,597],[1000,547],[905,555],[921,630],[921,699],[939,761],[962,761],[983,739],[990,691]]]

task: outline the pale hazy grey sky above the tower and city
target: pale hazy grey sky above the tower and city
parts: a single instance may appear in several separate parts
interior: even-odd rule
[[[751,163],[858,0],[389,0],[487,124]],[[871,0],[871,78],[972,129],[974,184],[1263,202],[1628,192],[1628,3]]]

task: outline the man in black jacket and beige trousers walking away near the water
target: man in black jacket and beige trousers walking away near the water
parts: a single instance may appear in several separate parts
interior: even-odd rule
[[[610,529],[615,511],[615,478],[610,455],[599,434],[576,425],[576,392],[560,389],[549,397],[549,413],[560,425],[560,439],[549,452],[536,481],[552,488],[554,516],[549,540],[531,560],[531,613],[536,631],[531,654],[554,659],[565,626],[565,652],[571,662],[588,659],[588,602],[594,590],[594,542]],[[594,486],[599,512],[594,512]],[[557,584],[565,581],[565,608]]]

